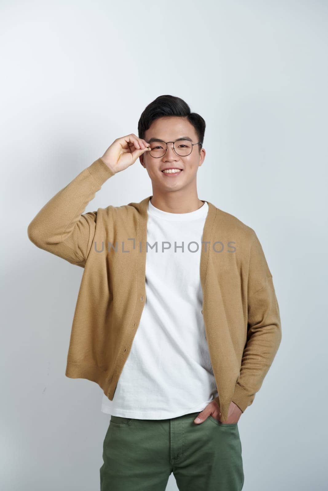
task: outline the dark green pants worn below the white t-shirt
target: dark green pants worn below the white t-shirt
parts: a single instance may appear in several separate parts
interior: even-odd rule
[[[240,491],[244,474],[238,423],[198,412],[171,419],[112,416],[104,439],[100,491]]]

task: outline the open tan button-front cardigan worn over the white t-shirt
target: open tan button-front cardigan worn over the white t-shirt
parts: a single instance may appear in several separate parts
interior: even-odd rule
[[[96,191],[114,175],[97,159],[50,199],[28,227],[37,247],[84,268],[66,376],[98,383],[110,400],[146,301],[151,198],[84,214]],[[202,313],[219,394],[215,400],[225,421],[231,401],[242,411],[252,404],[278,350],[281,324],[272,275],[256,233],[208,204],[200,244]]]

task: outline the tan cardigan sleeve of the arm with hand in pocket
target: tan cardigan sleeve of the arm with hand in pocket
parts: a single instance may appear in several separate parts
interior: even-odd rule
[[[280,312],[272,274],[255,232],[250,248],[247,287],[247,339],[232,399],[242,411],[252,404],[281,342]]]

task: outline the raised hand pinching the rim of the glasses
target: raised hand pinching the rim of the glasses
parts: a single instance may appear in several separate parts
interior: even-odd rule
[[[134,164],[140,155],[148,151],[148,147],[146,140],[131,133],[131,135],[117,138],[101,158],[112,172],[117,174]]]

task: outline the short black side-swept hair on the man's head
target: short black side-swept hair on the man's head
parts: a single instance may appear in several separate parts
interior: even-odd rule
[[[193,125],[196,130],[198,141],[201,142],[199,149],[203,146],[205,135],[205,120],[196,112],[191,112],[188,104],[173,95],[160,95],[156,97],[144,109],[138,121],[138,136],[145,138],[145,132],[149,129],[151,123],[155,119],[163,116],[179,116],[185,117]]]

